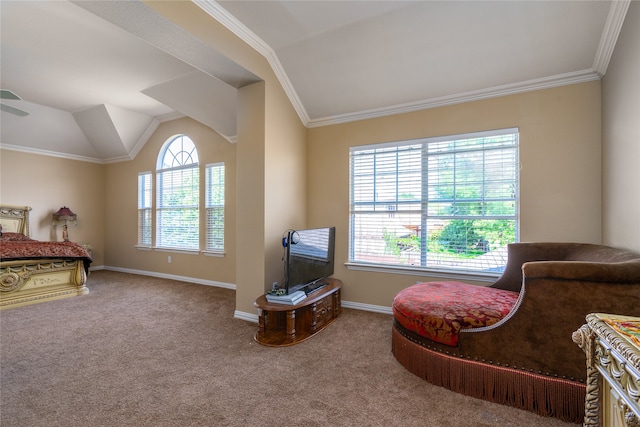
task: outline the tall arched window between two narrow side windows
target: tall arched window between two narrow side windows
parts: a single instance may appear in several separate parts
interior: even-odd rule
[[[198,150],[186,135],[169,139],[156,166],[156,247],[200,249]]]

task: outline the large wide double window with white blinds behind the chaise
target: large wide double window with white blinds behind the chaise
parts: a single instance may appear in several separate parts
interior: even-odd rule
[[[499,274],[518,165],[517,129],[352,147],[349,262]]]

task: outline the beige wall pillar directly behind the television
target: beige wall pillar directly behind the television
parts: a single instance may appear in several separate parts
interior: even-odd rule
[[[306,207],[306,129],[279,85],[239,90],[236,309],[282,281],[280,238],[302,227]]]

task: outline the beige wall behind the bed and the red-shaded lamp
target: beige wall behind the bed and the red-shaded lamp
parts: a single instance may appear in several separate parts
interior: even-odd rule
[[[31,237],[61,241],[51,215],[62,206],[78,215],[69,239],[93,247],[93,267],[104,265],[104,165],[0,150],[0,203],[31,206]]]

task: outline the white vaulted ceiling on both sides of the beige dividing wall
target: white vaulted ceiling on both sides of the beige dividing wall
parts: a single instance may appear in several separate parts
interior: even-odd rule
[[[194,0],[322,126],[600,78],[628,1]],[[138,1],[0,2],[4,148],[135,157],[188,116],[230,141],[251,72]]]

